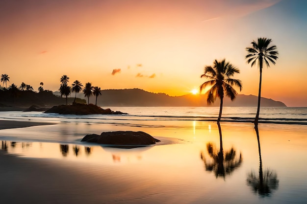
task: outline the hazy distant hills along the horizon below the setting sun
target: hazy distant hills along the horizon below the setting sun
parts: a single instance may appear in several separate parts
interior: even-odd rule
[[[97,99],[98,106],[208,106],[204,94],[187,94],[183,96],[169,96],[165,93],[152,93],[141,89],[124,90],[102,90],[102,95]],[[56,94],[56,93],[55,93]],[[73,94],[74,95],[74,94]],[[84,98],[82,93],[77,97]],[[231,101],[230,98],[224,98],[224,106],[231,107],[255,107],[258,97],[255,95],[238,94]],[[86,99],[87,100],[87,99]],[[95,104],[95,97],[90,97],[90,103]],[[220,106],[220,100],[211,106]],[[280,101],[261,98],[261,107],[286,107]]]

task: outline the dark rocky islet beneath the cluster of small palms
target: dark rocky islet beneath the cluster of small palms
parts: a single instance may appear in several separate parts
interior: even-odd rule
[[[75,114],[75,115],[87,115],[87,114],[127,114],[120,111],[112,111],[111,109],[102,109],[94,104],[80,104],[74,103],[73,105],[60,105],[53,106],[51,109],[44,113],[59,113],[59,114]]]

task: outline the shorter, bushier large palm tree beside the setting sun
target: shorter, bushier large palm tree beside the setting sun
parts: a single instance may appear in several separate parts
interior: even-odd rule
[[[241,81],[238,79],[232,79],[234,73],[240,73],[238,68],[233,67],[229,62],[226,62],[225,59],[222,61],[214,60],[213,67],[205,66],[205,72],[201,77],[208,78],[209,81],[203,83],[200,87],[202,91],[206,87],[210,87],[210,89],[206,92],[207,94],[207,103],[212,104],[216,97],[219,97],[220,102],[220,113],[217,121],[221,120],[222,109],[223,109],[223,98],[224,92],[231,100],[233,100],[238,94],[232,86],[237,86],[242,90]]]

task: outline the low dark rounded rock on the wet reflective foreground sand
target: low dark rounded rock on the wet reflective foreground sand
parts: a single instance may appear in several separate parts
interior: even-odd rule
[[[151,145],[160,140],[142,131],[103,132],[101,135],[86,135],[81,141],[111,145]]]

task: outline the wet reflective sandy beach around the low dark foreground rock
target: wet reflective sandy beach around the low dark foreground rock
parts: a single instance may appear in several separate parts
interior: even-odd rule
[[[306,125],[259,124],[257,133],[246,122],[221,122],[219,128],[214,121],[148,114],[125,120],[27,114],[27,121],[13,115],[1,124],[4,203],[303,204],[307,199]],[[119,149],[80,142],[86,134],[110,130],[144,131],[162,143]],[[213,159],[220,136],[222,163]],[[260,164],[263,175],[270,175],[261,184],[267,190],[259,188]]]

